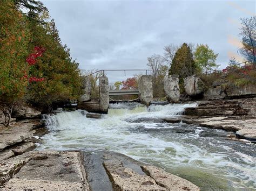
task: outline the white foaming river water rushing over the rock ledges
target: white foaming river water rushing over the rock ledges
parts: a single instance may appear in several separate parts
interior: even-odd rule
[[[102,119],[86,111],[45,115],[50,130],[39,149],[106,149],[164,168],[202,190],[254,190],[256,146],[228,140],[228,132],[161,118],[196,104],[111,104]]]

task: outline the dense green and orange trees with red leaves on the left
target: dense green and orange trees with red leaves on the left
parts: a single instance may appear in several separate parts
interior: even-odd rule
[[[61,43],[43,4],[24,2],[0,1],[0,100],[23,99],[44,106],[78,98],[82,92],[78,63]]]

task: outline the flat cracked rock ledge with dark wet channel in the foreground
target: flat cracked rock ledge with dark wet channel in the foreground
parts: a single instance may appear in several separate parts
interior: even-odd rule
[[[0,161],[0,190],[200,190],[110,151],[30,151]]]

